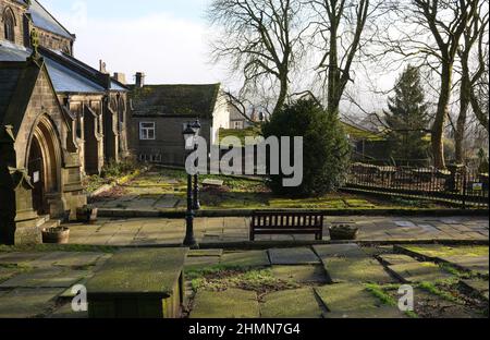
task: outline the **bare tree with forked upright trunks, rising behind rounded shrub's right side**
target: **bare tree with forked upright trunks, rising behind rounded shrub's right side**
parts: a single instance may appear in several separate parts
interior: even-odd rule
[[[376,4],[375,4],[376,2]],[[320,38],[322,58],[318,64],[327,83],[327,108],[339,113],[339,106],[348,82],[353,81],[354,59],[371,39],[363,39],[367,22],[380,2],[375,0],[315,0],[317,15],[314,40]]]

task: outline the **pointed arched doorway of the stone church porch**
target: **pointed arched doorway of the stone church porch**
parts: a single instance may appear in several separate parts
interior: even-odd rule
[[[28,149],[27,171],[33,189],[33,209],[50,214],[49,198],[60,193],[61,150],[58,133],[48,117],[34,127]]]

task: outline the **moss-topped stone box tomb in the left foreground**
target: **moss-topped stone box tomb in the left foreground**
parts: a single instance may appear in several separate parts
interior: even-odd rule
[[[186,248],[125,250],[88,280],[90,318],[179,318]]]

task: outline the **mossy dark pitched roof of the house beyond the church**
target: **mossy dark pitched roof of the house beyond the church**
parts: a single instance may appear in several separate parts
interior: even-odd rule
[[[212,118],[220,84],[145,85],[130,93],[134,116]]]

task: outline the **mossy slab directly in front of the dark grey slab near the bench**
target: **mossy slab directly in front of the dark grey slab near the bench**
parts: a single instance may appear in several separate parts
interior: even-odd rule
[[[272,274],[278,279],[297,283],[327,283],[328,278],[322,266],[273,266]]]

